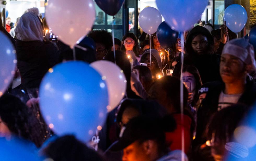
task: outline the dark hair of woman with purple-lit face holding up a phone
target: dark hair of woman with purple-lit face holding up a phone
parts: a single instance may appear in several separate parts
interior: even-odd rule
[[[195,93],[195,96],[194,96],[194,100],[191,103],[192,106],[195,106],[197,104],[198,99],[199,99],[198,91],[199,91],[199,88],[202,85],[202,80],[201,80],[199,71],[197,70],[196,67],[188,65],[188,66],[185,66],[183,68],[183,72],[191,73],[196,79],[196,93]]]

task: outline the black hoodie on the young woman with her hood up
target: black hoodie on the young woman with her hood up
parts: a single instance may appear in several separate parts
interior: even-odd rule
[[[200,55],[194,52],[191,46],[193,39],[199,34],[206,36],[208,40],[208,49],[206,53]],[[195,66],[200,73],[203,84],[207,82],[221,81],[219,74],[220,55],[212,53],[212,46],[213,37],[206,28],[196,26],[189,32],[185,44],[186,54],[184,55],[184,65]],[[180,72],[180,66],[181,63],[177,63],[174,69],[175,73]]]

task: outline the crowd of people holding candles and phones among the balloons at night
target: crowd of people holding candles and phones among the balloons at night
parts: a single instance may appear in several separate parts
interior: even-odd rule
[[[55,161],[224,160],[229,154],[225,145],[256,100],[255,55],[248,40],[237,39],[225,25],[211,32],[204,25],[200,22],[185,33],[184,42],[178,38],[169,48],[162,48],[156,33],[151,42],[148,36],[138,40],[126,33],[113,44],[111,33],[92,30],[74,55],[60,40],[49,40],[49,27],[36,8],[17,19],[14,29],[1,22],[18,61],[14,79],[0,97],[1,137],[26,139]],[[56,136],[40,113],[42,78],[74,56],[86,63],[115,62],[127,80],[124,99],[99,131],[97,151],[75,136]]]

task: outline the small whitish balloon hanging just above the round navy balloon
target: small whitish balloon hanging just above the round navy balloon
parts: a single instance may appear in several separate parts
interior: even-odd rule
[[[147,34],[155,33],[161,22],[162,16],[156,8],[144,8],[139,14],[139,26]]]

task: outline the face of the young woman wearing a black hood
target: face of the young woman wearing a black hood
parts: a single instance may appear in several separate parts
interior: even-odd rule
[[[193,50],[198,53],[198,54],[202,54],[205,52],[206,48],[208,45],[208,40],[206,36],[203,35],[197,35],[191,43],[191,46],[193,48]]]

